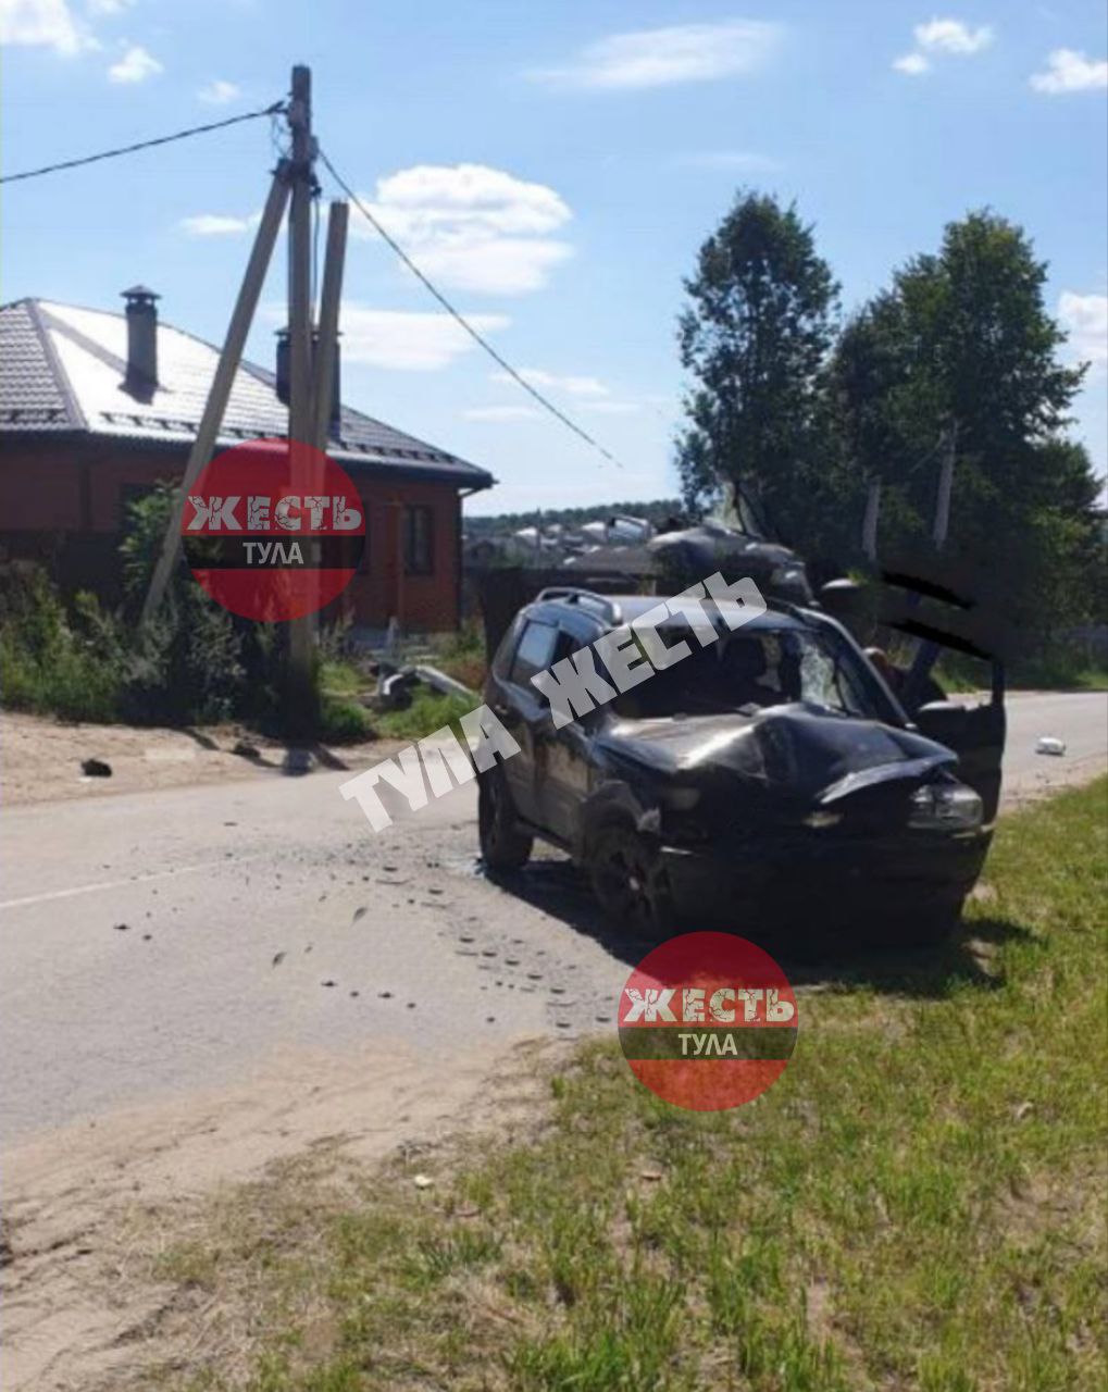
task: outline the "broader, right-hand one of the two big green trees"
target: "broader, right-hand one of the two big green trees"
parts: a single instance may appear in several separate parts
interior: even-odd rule
[[[1084,369],[1059,361],[1045,278],[1020,227],[969,213],[846,324],[830,370],[848,472],[887,484],[885,544],[930,535],[935,444],[956,430],[949,544],[988,558],[1029,635],[1084,611],[1097,493],[1063,434]]]

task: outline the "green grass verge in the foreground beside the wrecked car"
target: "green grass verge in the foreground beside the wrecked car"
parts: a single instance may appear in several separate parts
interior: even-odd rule
[[[529,1143],[227,1196],[163,1274],[251,1392],[1080,1392],[1105,1371],[1105,793],[1006,818],[970,937],[800,997],[781,1082],[656,1100],[611,1040]],[[212,1260],[212,1251],[216,1260]],[[175,1263],[175,1267],[174,1267]],[[238,1304],[235,1306],[235,1302]],[[207,1306],[206,1306],[207,1308]]]

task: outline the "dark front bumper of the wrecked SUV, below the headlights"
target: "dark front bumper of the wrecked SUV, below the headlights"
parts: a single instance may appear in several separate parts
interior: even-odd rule
[[[901,928],[952,915],[981,871],[991,831],[832,838],[818,831],[745,845],[663,846],[682,916],[818,933]]]

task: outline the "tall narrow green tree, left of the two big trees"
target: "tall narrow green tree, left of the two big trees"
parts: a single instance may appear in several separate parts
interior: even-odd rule
[[[685,501],[741,487],[784,540],[799,539],[818,475],[835,278],[795,205],[747,192],[700,248],[685,290],[678,338],[695,383],[676,441]]]

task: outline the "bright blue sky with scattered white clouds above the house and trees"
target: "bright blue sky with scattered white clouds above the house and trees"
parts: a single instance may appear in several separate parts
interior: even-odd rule
[[[475,512],[676,491],[681,278],[739,185],[796,199],[848,309],[969,207],[1022,223],[1094,359],[1076,429],[1108,464],[1101,0],[0,0],[0,24],[13,173],[267,104],[312,67],[338,170],[624,464],[497,380],[352,213],[344,395],[490,468]],[[118,308],[143,281],[219,341],[271,164],[259,121],[10,187],[3,298]]]

